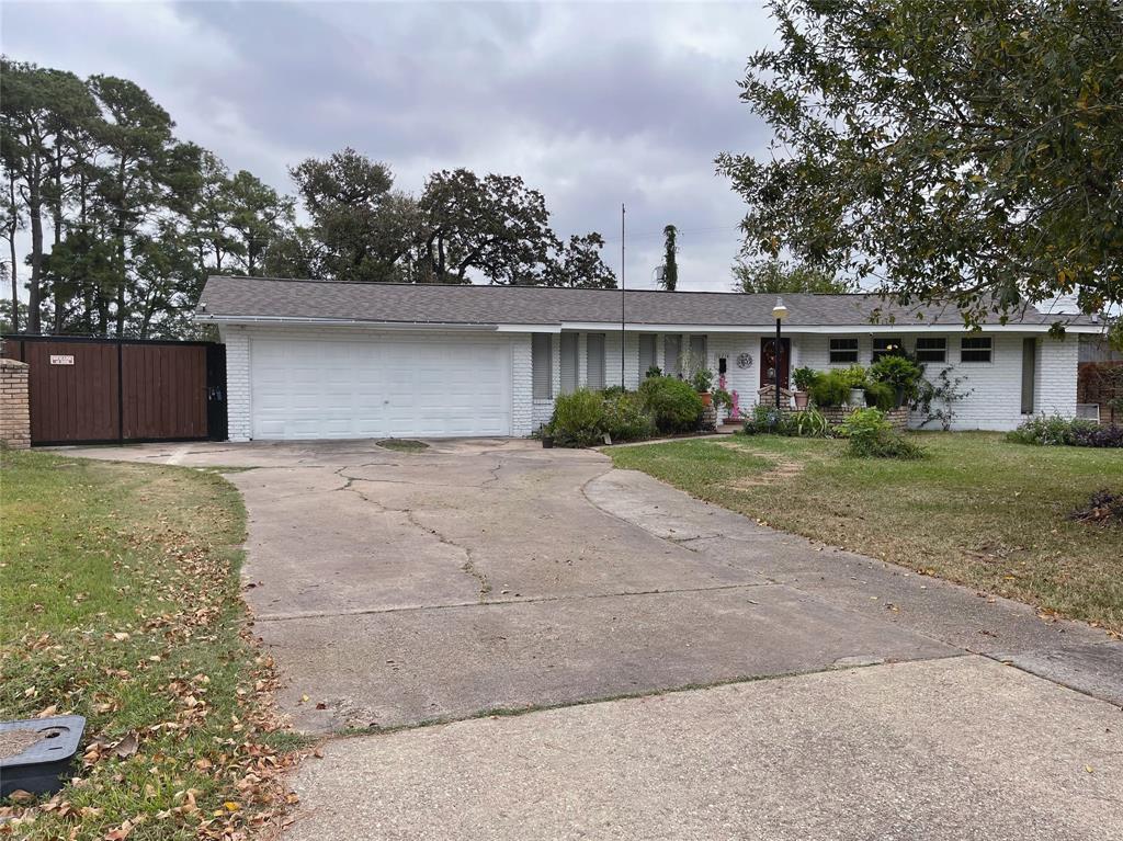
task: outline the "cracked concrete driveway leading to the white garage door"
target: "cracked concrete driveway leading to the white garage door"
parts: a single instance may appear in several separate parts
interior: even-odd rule
[[[74,454],[253,467],[228,477],[282,706],[313,733],[404,728],[305,762],[293,838],[1123,834],[1102,632],[596,453],[430,444]]]

